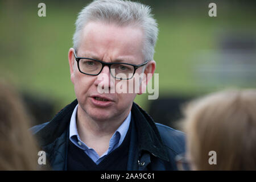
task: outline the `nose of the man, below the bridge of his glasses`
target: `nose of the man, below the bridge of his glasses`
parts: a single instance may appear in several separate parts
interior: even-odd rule
[[[114,78],[110,75],[110,70],[107,65],[105,65],[101,73],[97,76],[95,84],[96,86],[99,86],[101,89],[108,91],[114,88]]]

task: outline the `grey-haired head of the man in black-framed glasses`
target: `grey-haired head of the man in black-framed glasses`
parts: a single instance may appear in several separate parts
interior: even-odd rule
[[[157,34],[158,28],[149,7],[130,1],[93,1],[77,18],[73,42],[78,57],[135,65],[150,60],[136,70],[138,74],[147,75],[155,71],[153,56]],[[107,66],[98,76],[81,73],[75,60],[74,49],[69,49],[68,57],[79,107],[90,118],[98,121],[127,116],[137,93],[98,93],[98,86],[104,85],[110,90],[124,80],[111,79]],[[102,75],[108,76],[108,79],[97,79]],[[127,80],[133,81],[133,78]],[[147,82],[146,79],[141,85],[146,85]],[[144,92],[142,87],[139,94]],[[100,101],[98,104],[98,97],[106,102]]]

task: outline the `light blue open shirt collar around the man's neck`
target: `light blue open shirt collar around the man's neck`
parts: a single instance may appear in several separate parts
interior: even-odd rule
[[[118,127],[118,129],[115,131],[113,134],[112,138],[109,140],[109,148],[108,150],[99,156],[96,151],[94,151],[93,148],[90,148],[86,146],[84,142],[79,137],[79,134],[77,132],[77,126],[76,126],[76,114],[77,114],[77,107],[73,110],[72,116],[71,116],[71,121],[70,121],[70,126],[69,126],[69,139],[73,144],[75,144],[77,147],[81,148],[84,150],[85,154],[87,154],[94,163],[99,164],[106,155],[110,154],[115,148],[119,147],[123,139],[125,139],[125,136],[127,134],[127,131],[129,129],[129,125],[131,122],[131,111],[125,121],[123,121],[122,125]]]

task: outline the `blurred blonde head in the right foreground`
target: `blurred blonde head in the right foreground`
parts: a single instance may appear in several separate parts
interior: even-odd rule
[[[188,158],[197,170],[256,169],[256,90],[229,90],[185,110]],[[217,164],[209,164],[216,151]]]

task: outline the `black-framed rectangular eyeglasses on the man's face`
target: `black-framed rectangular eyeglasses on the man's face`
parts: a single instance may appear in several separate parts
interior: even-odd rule
[[[119,80],[129,80],[133,78],[135,71],[143,67],[148,61],[142,64],[130,64],[130,63],[106,63],[104,61],[91,59],[88,57],[77,57],[74,50],[75,59],[77,61],[77,67],[81,73],[85,75],[97,76],[101,73],[105,66],[109,67],[110,74]]]

